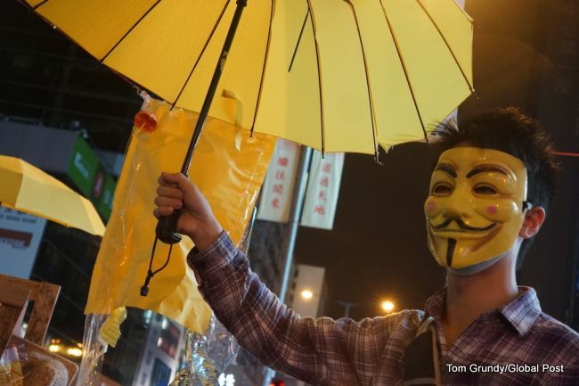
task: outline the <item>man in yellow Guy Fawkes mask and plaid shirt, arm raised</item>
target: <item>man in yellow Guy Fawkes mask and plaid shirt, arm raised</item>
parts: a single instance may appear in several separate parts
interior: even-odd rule
[[[298,316],[251,272],[208,202],[179,174],[159,177],[154,215],[183,209],[177,230],[197,245],[188,261],[216,316],[262,363],[300,380],[578,385],[579,335],[543,314],[534,290],[515,278],[518,255],[553,196],[550,142],[515,109],[483,114],[441,138],[424,210],[428,246],[446,268],[447,286],[424,311],[360,322]],[[425,331],[432,340],[420,338]],[[430,349],[433,373],[409,378],[417,352]]]

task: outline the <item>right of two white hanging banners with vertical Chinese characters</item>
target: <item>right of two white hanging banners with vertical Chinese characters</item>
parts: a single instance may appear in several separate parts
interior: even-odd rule
[[[314,150],[300,225],[331,230],[338,205],[344,153],[325,154]]]

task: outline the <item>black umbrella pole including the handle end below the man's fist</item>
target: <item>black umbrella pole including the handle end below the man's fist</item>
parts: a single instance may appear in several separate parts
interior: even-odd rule
[[[215,72],[213,72],[213,78],[211,78],[211,83],[209,84],[207,94],[205,95],[205,101],[203,101],[203,106],[201,107],[199,118],[195,124],[195,129],[193,130],[191,141],[189,142],[189,147],[185,153],[185,159],[183,160],[183,166],[181,167],[181,173],[183,173],[184,176],[187,176],[189,172],[189,166],[191,165],[191,160],[193,158],[193,151],[195,150],[195,146],[199,141],[201,131],[203,130],[203,126],[207,120],[209,108],[213,102],[213,97],[215,96],[217,85],[219,84],[219,79],[221,78],[225,62],[227,61],[227,55],[229,54],[229,50],[232,46],[233,37],[235,37],[237,26],[241,20],[241,13],[243,12],[243,8],[245,8],[245,6],[248,4],[248,1],[237,0],[236,4],[237,7],[235,8],[235,13],[233,14],[232,23],[229,26],[227,37],[225,37],[224,46],[221,49],[219,61],[216,64]],[[165,242],[167,244],[175,244],[176,242],[181,241],[181,235],[177,234],[176,232],[177,220],[179,219],[180,215],[180,210],[175,210],[172,215],[159,218],[159,222],[155,228],[155,233],[161,242]]]

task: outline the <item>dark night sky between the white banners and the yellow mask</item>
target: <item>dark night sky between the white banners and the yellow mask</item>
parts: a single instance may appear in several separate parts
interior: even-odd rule
[[[348,154],[334,229],[301,227],[296,259],[327,268],[326,313],[341,316],[334,300],[366,303],[350,316],[377,315],[371,304],[389,297],[420,308],[444,283],[430,257],[422,202],[428,192],[427,144],[404,144],[382,156]]]

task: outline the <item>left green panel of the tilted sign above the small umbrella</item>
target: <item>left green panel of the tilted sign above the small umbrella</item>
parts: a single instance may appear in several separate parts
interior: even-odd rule
[[[72,182],[86,196],[91,195],[94,175],[99,167],[99,159],[93,149],[86,144],[82,136],[77,136],[77,142],[70,157],[68,174]]]

